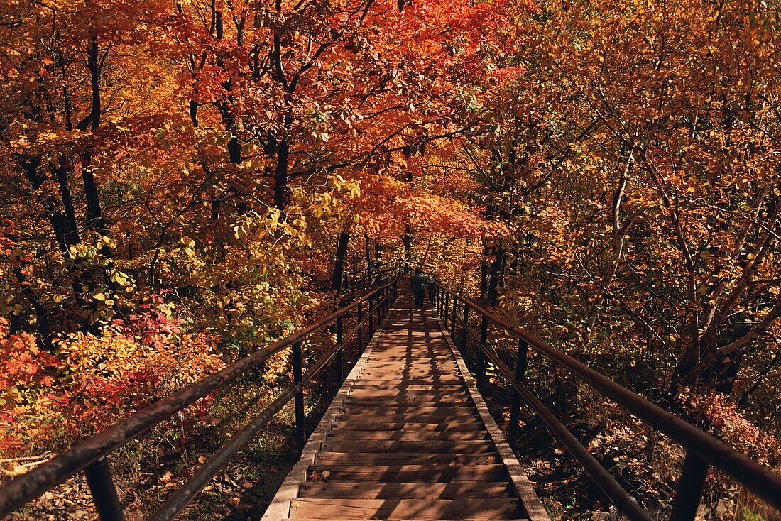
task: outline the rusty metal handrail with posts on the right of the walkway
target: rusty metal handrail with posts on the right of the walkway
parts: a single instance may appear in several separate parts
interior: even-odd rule
[[[446,316],[450,311],[448,303],[445,302],[444,295],[448,295],[448,301],[450,300],[450,297],[453,298],[453,312],[449,313],[451,318],[451,330],[455,331],[455,321],[458,320],[455,313],[455,302],[462,302],[464,306],[464,315],[466,318],[459,320],[459,322],[462,323],[462,347],[467,331],[469,331],[470,336],[474,336],[473,330],[468,327],[468,316],[470,311],[476,312],[478,315],[482,316],[483,319],[487,319],[487,321],[494,323],[497,327],[505,330],[506,333],[512,334],[519,340],[515,376],[512,376],[510,369],[501,362],[500,359],[493,356],[493,353],[487,348],[484,339],[479,339],[478,344],[480,352],[487,355],[491,362],[500,369],[502,375],[511,382],[513,390],[515,391],[515,396],[524,398],[527,405],[530,405],[532,409],[535,409],[538,414],[541,414],[541,409],[536,406],[537,404],[530,403],[530,400],[528,399],[530,397],[526,395],[525,392],[521,391],[521,389],[523,389],[530,393],[530,391],[526,390],[526,387],[521,385],[522,380],[524,379],[523,373],[526,369],[526,351],[528,348],[532,348],[540,354],[546,355],[560,366],[569,369],[572,374],[580,378],[580,380],[587,382],[587,384],[590,384],[605,397],[622,405],[622,407],[627,409],[634,416],[642,419],[655,430],[658,430],[658,432],[665,434],[673,441],[676,441],[676,443],[683,446],[683,448],[686,448],[686,462],[684,463],[682,476],[679,479],[679,486],[676,491],[676,499],[670,519],[676,521],[694,519],[694,515],[697,512],[697,506],[701,499],[702,487],[704,486],[704,479],[707,474],[708,466],[719,469],[769,505],[772,505],[776,509],[781,509],[781,475],[778,473],[772,472],[768,467],[759,465],[747,455],[736,451],[736,449],[730,447],[723,441],[720,441],[710,434],[705,433],[703,430],[698,429],[696,426],[687,423],[678,416],[673,415],[671,412],[665,411],[665,409],[655,405],[646,398],[629,391],[626,387],[622,387],[613,380],[610,380],[607,376],[604,376],[582,362],[573,359],[563,351],[553,347],[551,344],[547,344],[547,342],[540,340],[540,338],[530,334],[528,331],[509,323],[499,316],[495,316],[493,313],[483,309],[482,306],[473,300],[450,291],[439,282],[435,282],[434,287],[435,291],[433,291],[432,295],[433,301],[435,309],[437,309],[441,315]],[[445,327],[447,328],[447,323],[445,323]],[[479,365],[482,365],[482,367],[479,368],[479,371],[484,371],[484,364]],[[478,381],[481,381],[482,379],[482,376],[478,374]],[[542,405],[541,402],[537,402],[538,405]],[[547,411],[547,409],[545,409],[545,411]],[[517,411],[514,410],[513,412],[513,417],[517,420]],[[551,429],[551,425],[549,425],[548,422],[545,423],[549,430],[551,430],[551,434],[559,441],[562,441],[563,433],[555,432],[555,429]],[[511,425],[511,428],[512,427],[513,426]],[[567,432],[569,433],[569,431]],[[573,449],[565,441],[562,441],[562,443],[573,451],[573,453],[579,452],[578,449]],[[583,446],[580,445],[580,447],[582,448]],[[583,448],[583,451],[585,451],[585,448]],[[586,455],[583,454],[580,454],[580,456],[583,458],[586,457]],[[580,458],[578,459],[580,461]],[[589,469],[587,468],[587,470]],[[601,479],[598,475],[595,476],[590,470],[589,473],[604,491],[604,479]],[[610,484],[605,485],[608,487],[611,486]],[[608,494],[608,496],[609,495],[610,494]],[[617,506],[620,507],[621,505]],[[637,517],[630,519],[643,518]]]

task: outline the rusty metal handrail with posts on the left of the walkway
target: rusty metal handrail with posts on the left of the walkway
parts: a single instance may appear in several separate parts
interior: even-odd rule
[[[187,387],[180,389],[169,397],[163,398],[162,400],[149,405],[147,408],[135,412],[133,415],[123,419],[119,423],[102,430],[100,433],[77,442],[73,447],[60,452],[48,462],[30,470],[30,472],[23,474],[22,476],[16,476],[9,481],[9,483],[0,487],[0,519],[9,515],[11,512],[20,509],[23,505],[34,500],[45,491],[62,484],[62,482],[81,471],[84,471],[87,475],[87,482],[90,485],[100,519],[104,521],[109,519],[112,521],[124,519],[122,507],[119,505],[119,501],[116,498],[116,488],[112,483],[111,473],[105,462],[105,457],[107,455],[152,429],[152,427],[158,423],[169,419],[177,412],[192,405],[195,401],[205,398],[205,396],[209,395],[212,391],[216,391],[216,389],[223,387],[223,385],[236,380],[238,376],[254,369],[266,359],[269,359],[270,356],[275,355],[285,348],[292,346],[294,351],[298,351],[298,356],[296,356],[297,353],[294,352],[294,374],[301,375],[301,341],[304,341],[309,335],[328,327],[331,323],[337,324],[337,338],[341,338],[341,319],[353,310],[357,310],[358,312],[358,327],[351,330],[350,335],[348,335],[347,338],[355,331],[358,331],[358,334],[361,335],[361,338],[358,341],[360,349],[363,342],[363,323],[366,323],[367,320],[369,321],[370,338],[373,333],[373,316],[375,314],[377,315],[379,326],[380,318],[387,315],[391,303],[395,300],[397,295],[398,281],[392,280],[390,283],[376,288],[376,290],[371,293],[345,305],[336,312],[331,313],[329,316],[319,319],[317,322],[296,331],[288,337],[274,342],[266,348],[262,348],[243,359],[237,360],[237,362],[232,363],[230,366],[227,366],[217,373],[206,376],[194,384],[187,385]],[[369,312],[366,314],[365,318],[362,318],[362,305],[366,302],[369,303]],[[272,405],[269,405],[269,407],[266,408],[259,417],[253,420],[248,427],[245,427],[245,430],[249,427],[255,427],[255,430],[253,431],[254,434],[262,424],[265,424],[268,419],[287,404],[288,401],[292,398],[296,398],[296,424],[300,435],[305,426],[305,418],[303,417],[303,386],[308,380],[311,380],[312,376],[314,376],[319,369],[322,369],[323,366],[325,366],[326,362],[333,354],[338,353],[341,355],[344,341],[347,340],[347,338],[342,338],[341,342],[337,342],[325,356],[321,357],[321,359],[312,366],[300,381],[296,381],[294,387],[292,387],[290,391],[287,391],[280,396],[280,398],[277,398],[276,401],[274,401]],[[338,360],[341,362],[341,356],[338,357]],[[298,366],[296,364],[297,361]],[[342,371],[340,371],[339,374],[341,376]],[[287,398],[284,399],[284,403],[278,403],[283,398]],[[269,413],[271,413],[270,416]],[[266,416],[268,417],[266,418]],[[303,443],[305,442],[305,439],[299,441]],[[230,445],[230,448],[236,449],[235,451],[230,452],[230,454],[233,455],[238,448],[241,447],[237,447],[234,443]],[[223,450],[224,449],[225,448],[223,448]],[[219,454],[225,454],[225,452],[220,451],[218,455]],[[216,458],[217,455],[209,460],[204,467],[208,467],[209,470],[211,470]],[[218,462],[219,461],[222,461],[222,459],[219,459]],[[227,459],[223,462],[223,465],[226,462]],[[212,465],[210,466],[209,463]],[[219,468],[222,468],[222,466],[217,467],[214,472],[216,473]],[[211,474],[211,476],[213,475],[214,473]],[[203,473],[198,476],[202,478]],[[170,519],[175,516],[187,505],[194,495],[201,490],[201,487],[198,487],[195,494],[189,495],[192,486],[188,488],[188,484],[185,484],[183,487],[183,489],[188,489],[187,501],[184,503],[180,501],[180,503],[177,504],[178,509],[176,509],[175,512],[171,513],[171,509],[168,509],[166,510],[166,514],[159,517],[159,519]]]

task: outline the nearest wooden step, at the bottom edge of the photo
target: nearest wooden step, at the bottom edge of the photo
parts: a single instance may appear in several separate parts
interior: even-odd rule
[[[290,519],[500,519],[515,516],[517,499],[319,499],[291,501]]]

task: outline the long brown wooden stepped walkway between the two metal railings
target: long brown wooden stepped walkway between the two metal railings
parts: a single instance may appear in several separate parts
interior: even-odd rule
[[[439,320],[400,294],[262,519],[548,518]]]

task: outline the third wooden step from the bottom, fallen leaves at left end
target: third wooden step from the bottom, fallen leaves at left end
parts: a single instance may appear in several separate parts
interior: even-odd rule
[[[323,473],[328,473],[323,478]],[[470,466],[451,465],[331,465],[316,463],[308,467],[309,480],[360,481],[363,483],[451,483],[460,481],[504,481],[507,469],[500,463]]]

